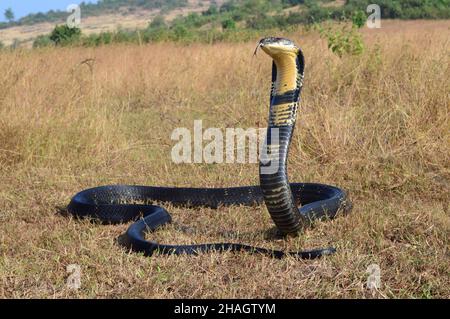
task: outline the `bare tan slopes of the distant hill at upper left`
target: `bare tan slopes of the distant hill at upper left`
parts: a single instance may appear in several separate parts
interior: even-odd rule
[[[156,16],[171,21],[177,16],[207,10],[211,3],[223,4],[223,0],[102,0],[96,4],[82,4],[81,29],[83,34],[121,29],[142,29]],[[0,23],[0,43],[15,43],[30,47],[40,35],[50,33],[56,24],[65,23],[69,13],[48,11],[29,14],[11,23]]]

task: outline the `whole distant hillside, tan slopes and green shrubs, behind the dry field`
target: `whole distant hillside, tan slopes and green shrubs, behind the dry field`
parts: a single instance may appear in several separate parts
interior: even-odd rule
[[[162,39],[224,38],[235,31],[285,29],[327,19],[364,17],[372,0],[101,0],[81,4],[81,31],[90,43],[109,43],[110,38],[139,42]],[[450,0],[377,0],[382,19],[449,19]],[[0,44],[31,46],[63,24],[69,13],[49,11],[0,23]],[[155,20],[156,19],[156,20]],[[137,34],[107,34],[128,30]],[[140,31],[136,31],[140,30]],[[206,34],[208,31],[211,34]],[[100,37],[95,35],[100,34]],[[233,37],[234,35],[231,34]],[[242,35],[239,35],[242,37]],[[125,39],[127,38],[127,39]],[[45,39],[44,39],[45,40]],[[115,41],[114,40],[114,41]],[[113,41],[113,42],[114,42]],[[120,40],[122,41],[122,40]]]

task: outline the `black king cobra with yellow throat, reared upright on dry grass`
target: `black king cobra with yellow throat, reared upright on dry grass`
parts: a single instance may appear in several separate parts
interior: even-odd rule
[[[121,244],[146,256],[152,256],[156,252],[180,255],[210,251],[247,251],[274,258],[294,256],[313,259],[334,253],[335,248],[332,247],[289,252],[240,243],[166,245],[145,239],[146,233],[155,232],[172,221],[163,207],[149,204],[154,202],[210,208],[250,206],[264,202],[281,235],[298,234],[315,220],[332,219],[340,212],[350,211],[351,203],[342,189],[324,184],[289,183],[287,157],[303,85],[305,60],[300,48],[288,39],[264,38],[258,43],[255,55],[259,48],[273,59],[269,125],[261,151],[266,155],[260,156],[259,186],[102,186],[75,195],[67,208],[68,212],[76,217],[89,217],[110,224],[134,221],[123,235]]]

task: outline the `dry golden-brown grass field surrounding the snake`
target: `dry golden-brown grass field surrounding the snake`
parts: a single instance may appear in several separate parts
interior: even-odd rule
[[[0,297],[450,297],[449,21],[366,30],[338,58],[317,33],[289,36],[307,59],[291,181],[339,185],[352,213],[274,239],[264,206],[171,208],[166,243],[335,245],[314,261],[249,254],[145,258],[117,245],[127,225],[61,215],[104,184],[258,183],[256,164],[171,161],[177,127],[265,127],[271,61],[245,44],[107,46],[0,53]],[[264,36],[264,35],[261,35]],[[87,59],[92,59],[88,60]],[[66,287],[69,264],[81,289]],[[366,288],[371,264],[382,286]]]

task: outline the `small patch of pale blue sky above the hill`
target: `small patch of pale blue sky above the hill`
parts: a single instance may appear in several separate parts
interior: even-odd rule
[[[47,12],[49,10],[66,10],[69,4],[81,3],[82,0],[0,0],[0,21],[5,21],[5,10],[11,8],[16,19],[29,13]],[[85,2],[97,2],[90,0]]]

